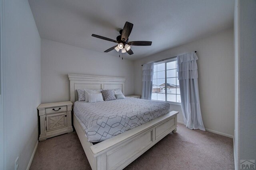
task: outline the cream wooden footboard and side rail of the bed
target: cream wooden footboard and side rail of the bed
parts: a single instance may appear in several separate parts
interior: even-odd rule
[[[170,132],[176,132],[178,112],[172,111],[136,128],[93,145],[76,116],[74,127],[92,170],[122,170]]]

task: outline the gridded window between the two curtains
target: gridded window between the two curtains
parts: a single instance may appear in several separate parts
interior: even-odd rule
[[[177,58],[154,64],[152,100],[180,103]]]

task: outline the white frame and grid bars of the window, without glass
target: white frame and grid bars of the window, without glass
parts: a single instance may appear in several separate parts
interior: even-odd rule
[[[178,104],[178,105],[181,105],[181,102],[171,102],[171,101],[167,101],[167,88],[166,88],[166,84],[167,84],[167,63],[168,62],[172,62],[172,61],[177,61],[177,57],[173,57],[173,58],[170,58],[170,59],[168,59],[168,60],[164,60],[164,61],[160,61],[160,62],[154,62],[154,65],[155,64],[162,64],[162,63],[164,63],[165,64],[165,69],[164,69],[164,72],[165,72],[165,101],[163,101],[163,100],[154,100],[154,101],[160,101],[160,102],[168,102],[168,103],[171,103],[171,104]],[[177,69],[177,66],[176,66],[176,69]],[[169,69],[169,70],[172,70],[172,69]],[[178,77],[176,77],[176,87],[177,87],[177,78]],[[156,79],[157,80],[157,79]],[[176,93],[175,93],[175,95],[176,95],[176,100],[177,100],[177,88],[176,88]],[[180,94],[178,94],[178,95],[180,95]],[[153,100],[153,99],[152,99]]]

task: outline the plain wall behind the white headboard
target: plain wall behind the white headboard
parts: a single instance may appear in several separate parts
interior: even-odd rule
[[[42,39],[42,103],[70,100],[67,74],[125,77],[125,95],[134,93],[132,61]]]

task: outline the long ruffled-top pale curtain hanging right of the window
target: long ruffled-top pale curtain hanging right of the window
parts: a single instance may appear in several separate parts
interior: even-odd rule
[[[195,52],[177,56],[181,106],[186,127],[205,130],[200,109],[196,60],[198,57]]]

